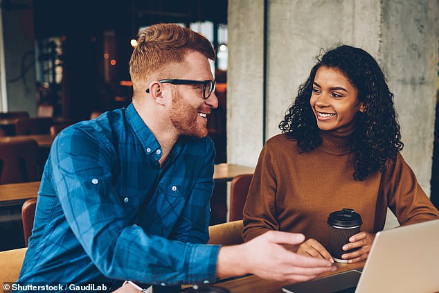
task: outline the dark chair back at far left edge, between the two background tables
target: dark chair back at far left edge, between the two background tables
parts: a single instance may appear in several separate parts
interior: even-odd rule
[[[37,181],[38,144],[26,141],[0,142],[0,184]]]

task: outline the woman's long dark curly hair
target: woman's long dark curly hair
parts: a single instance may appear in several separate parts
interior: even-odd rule
[[[312,112],[310,98],[314,77],[321,66],[339,69],[357,89],[364,112],[357,114],[353,134],[354,174],[364,180],[386,169],[388,159],[396,160],[402,150],[400,125],[393,107],[393,94],[375,59],[361,48],[341,45],[316,57],[310,77],[298,89],[296,101],[279,124],[289,139],[297,141],[299,152],[309,152],[321,144],[319,127]]]

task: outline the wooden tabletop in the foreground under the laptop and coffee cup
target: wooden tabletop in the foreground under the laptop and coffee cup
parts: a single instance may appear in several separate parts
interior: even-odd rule
[[[347,263],[337,263],[337,271],[331,273],[321,274],[321,276],[330,276],[331,274],[337,274],[341,272],[348,271],[350,269],[357,269],[359,267],[364,267],[366,261],[361,261],[359,263],[347,264]],[[279,281],[268,281],[258,276],[244,276],[242,278],[235,278],[231,281],[219,282],[216,285],[220,287],[225,287],[232,293],[281,293],[282,287],[291,284],[291,282],[279,282]]]

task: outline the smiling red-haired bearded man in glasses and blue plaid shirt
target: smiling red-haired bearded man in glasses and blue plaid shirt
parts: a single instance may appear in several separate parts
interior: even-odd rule
[[[132,104],[66,128],[53,143],[17,283],[116,289],[123,280],[169,286],[248,273],[295,282],[334,269],[284,249],[303,241],[291,233],[204,245],[215,157],[206,123],[218,105],[208,59],[210,42],[177,24],[139,34]]]

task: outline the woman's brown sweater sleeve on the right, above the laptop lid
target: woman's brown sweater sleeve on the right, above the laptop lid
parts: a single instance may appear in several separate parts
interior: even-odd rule
[[[388,207],[401,225],[425,222],[439,218],[437,208],[431,204],[415,177],[413,170],[401,154],[386,170]]]

